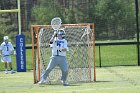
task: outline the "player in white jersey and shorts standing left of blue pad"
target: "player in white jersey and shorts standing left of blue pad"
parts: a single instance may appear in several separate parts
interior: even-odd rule
[[[8,36],[4,36],[3,40],[4,40],[4,42],[0,46],[1,62],[4,62],[5,73],[8,74],[7,64],[9,63],[11,74],[13,74],[15,72],[12,68],[11,54],[12,53],[15,54],[14,47],[11,42],[8,42]]]

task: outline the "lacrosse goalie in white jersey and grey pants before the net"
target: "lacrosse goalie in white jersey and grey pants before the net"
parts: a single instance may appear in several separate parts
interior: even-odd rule
[[[49,73],[55,68],[55,66],[59,66],[62,71],[61,82],[64,86],[67,86],[68,62],[66,59],[66,52],[68,51],[68,46],[67,40],[65,39],[64,29],[59,29],[54,32],[50,39],[50,47],[52,48],[52,57],[50,58],[48,67],[46,68],[45,73],[41,76],[41,80],[38,84],[48,82]]]

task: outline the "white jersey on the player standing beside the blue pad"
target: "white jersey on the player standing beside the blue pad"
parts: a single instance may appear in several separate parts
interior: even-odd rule
[[[0,50],[2,51],[3,56],[9,56],[11,52],[14,50],[14,47],[11,44],[11,42],[8,42],[7,44],[3,42],[0,46]]]

